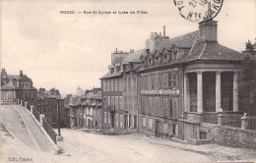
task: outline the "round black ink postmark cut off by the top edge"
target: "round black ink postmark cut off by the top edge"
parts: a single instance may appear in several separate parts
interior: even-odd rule
[[[214,19],[223,3],[224,0],[174,0],[180,16],[195,23]]]

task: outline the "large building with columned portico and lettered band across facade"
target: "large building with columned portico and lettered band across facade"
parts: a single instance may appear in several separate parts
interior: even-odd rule
[[[200,123],[217,123],[222,111],[239,114],[237,74],[244,55],[218,43],[215,21],[178,37],[160,37],[152,33],[150,53],[141,58],[140,130],[205,138]]]

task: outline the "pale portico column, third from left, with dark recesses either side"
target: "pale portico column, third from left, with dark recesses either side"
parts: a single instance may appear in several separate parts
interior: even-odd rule
[[[216,112],[222,111],[221,92],[221,72],[216,72]]]

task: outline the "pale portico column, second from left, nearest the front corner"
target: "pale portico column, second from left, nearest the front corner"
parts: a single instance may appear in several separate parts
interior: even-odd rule
[[[197,112],[203,112],[203,73],[197,73]]]

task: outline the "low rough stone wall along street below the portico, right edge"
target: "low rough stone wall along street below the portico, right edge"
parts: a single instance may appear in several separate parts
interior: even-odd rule
[[[208,133],[212,136],[213,143],[256,149],[256,131],[218,126],[210,123],[201,124],[201,128],[208,130]]]

